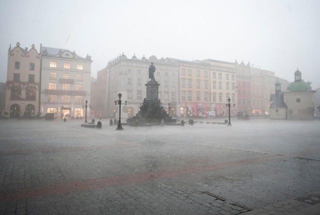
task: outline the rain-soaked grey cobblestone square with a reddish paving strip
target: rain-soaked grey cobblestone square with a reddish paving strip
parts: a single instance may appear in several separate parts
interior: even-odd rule
[[[0,120],[0,215],[320,214],[320,121]]]

